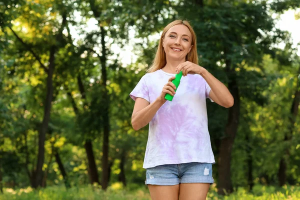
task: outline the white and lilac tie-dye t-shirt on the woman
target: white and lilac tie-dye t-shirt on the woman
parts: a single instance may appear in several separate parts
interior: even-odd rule
[[[129,94],[152,103],[175,74],[159,69],[146,73]],[[207,127],[206,98],[210,87],[198,74],[182,76],[172,101],[166,101],[149,122],[143,168],[186,162],[214,163]],[[210,99],[211,100],[211,99]],[[211,100],[212,101],[212,100]]]

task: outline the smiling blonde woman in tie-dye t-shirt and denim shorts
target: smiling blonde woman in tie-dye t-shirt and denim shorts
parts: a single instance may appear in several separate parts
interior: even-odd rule
[[[183,76],[175,92],[171,81],[179,71]],[[172,101],[164,99],[167,93]],[[163,29],[153,63],[130,97],[135,100],[132,127],[149,123],[143,168],[151,198],[205,199],[214,182],[205,98],[231,107],[233,97],[198,65],[196,36],[187,21]]]

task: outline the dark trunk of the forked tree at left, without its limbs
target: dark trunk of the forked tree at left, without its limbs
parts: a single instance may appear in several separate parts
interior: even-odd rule
[[[51,46],[50,48],[50,57],[49,57],[49,67],[47,70],[47,93],[46,99],[44,103],[44,116],[41,123],[41,128],[38,134],[38,154],[37,154],[37,164],[36,164],[36,171],[35,171],[35,181],[34,188],[41,185],[42,180],[42,165],[44,163],[44,143],[46,138],[46,131],[48,129],[48,122],[50,119],[50,109],[51,109],[51,101],[53,97],[53,80],[52,75],[54,71],[54,53],[55,53],[55,46]]]

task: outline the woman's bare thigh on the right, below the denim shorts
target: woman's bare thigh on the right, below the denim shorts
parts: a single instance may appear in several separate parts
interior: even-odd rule
[[[180,200],[205,200],[210,183],[180,183]]]

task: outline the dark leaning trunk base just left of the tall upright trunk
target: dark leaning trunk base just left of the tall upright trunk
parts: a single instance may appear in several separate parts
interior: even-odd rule
[[[95,158],[92,151],[92,144],[90,139],[85,140],[84,148],[87,155],[88,171],[89,171],[88,174],[89,174],[90,183],[93,184],[94,182],[96,182],[99,184],[98,171],[97,171],[96,163],[94,161]]]

